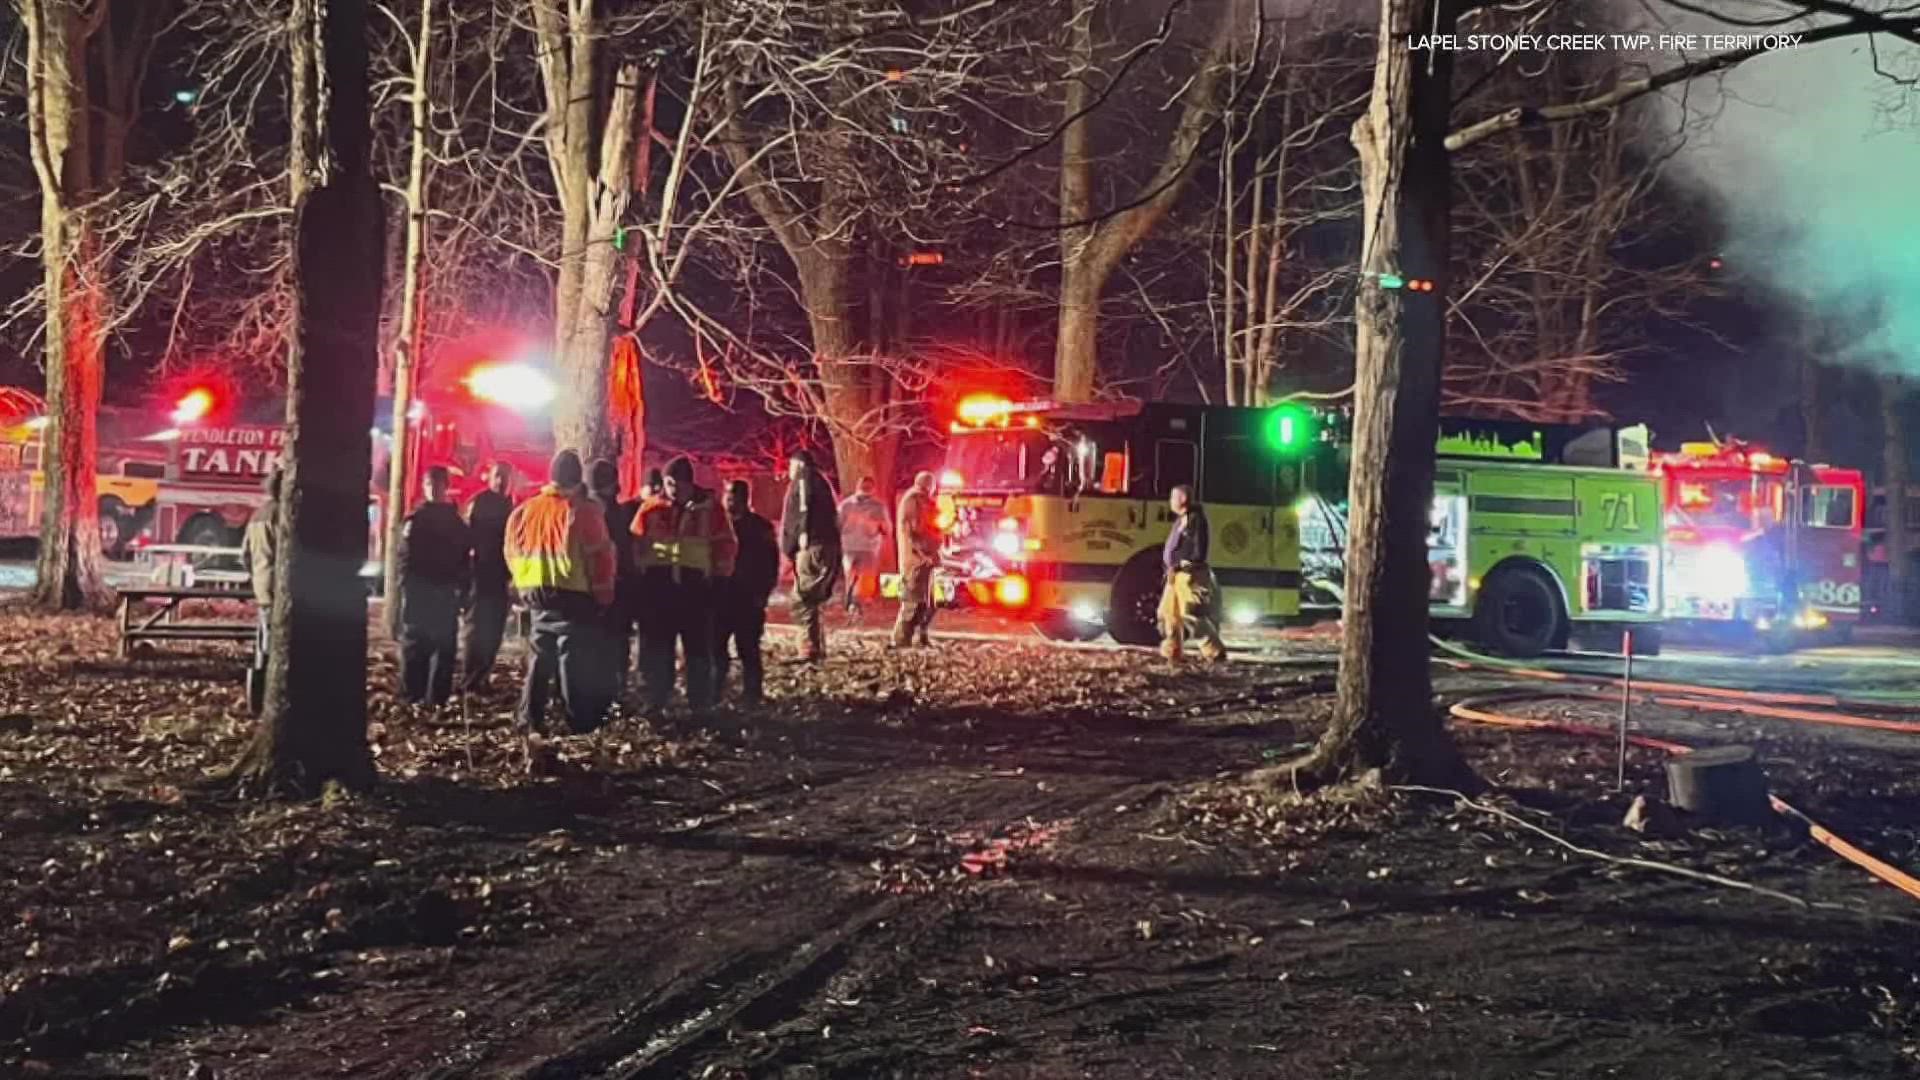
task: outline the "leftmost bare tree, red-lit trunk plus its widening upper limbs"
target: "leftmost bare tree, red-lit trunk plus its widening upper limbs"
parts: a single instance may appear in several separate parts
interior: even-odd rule
[[[113,319],[111,273],[98,223],[127,169],[154,38],[165,0],[15,0],[27,27],[27,117],[40,181],[44,284],[46,509],[35,603],[100,605],[102,577],[96,417]]]

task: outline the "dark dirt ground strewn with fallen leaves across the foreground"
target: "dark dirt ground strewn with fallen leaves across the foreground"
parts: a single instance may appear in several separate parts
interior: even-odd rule
[[[1325,721],[1311,657],[858,640],[756,715],[532,753],[503,673],[465,715],[376,692],[376,790],[261,803],[207,782],[238,651],[109,646],[0,615],[8,1076],[1920,1072],[1920,905],[1786,828],[1620,828],[1651,751],[1615,794],[1605,746],[1459,730],[1486,805],[1811,903],[1446,796],[1254,792]],[[1920,742],[1642,723],[1920,867]]]

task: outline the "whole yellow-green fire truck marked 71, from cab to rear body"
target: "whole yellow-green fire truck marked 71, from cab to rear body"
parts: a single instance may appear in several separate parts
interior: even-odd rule
[[[1338,427],[1292,404],[962,400],[941,477],[943,577],[1052,638],[1104,630],[1152,644],[1165,500],[1188,484],[1206,505],[1229,623],[1325,617],[1346,542]],[[1448,421],[1436,450],[1438,626],[1517,655],[1622,625],[1640,628],[1636,651],[1659,648],[1659,486],[1645,429]]]

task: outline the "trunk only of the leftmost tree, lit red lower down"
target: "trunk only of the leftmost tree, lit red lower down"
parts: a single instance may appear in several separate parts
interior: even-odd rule
[[[40,181],[40,269],[46,286],[46,430],[40,553],[31,601],[38,607],[102,607],[111,600],[100,553],[98,430],[106,379],[104,267],[94,242],[98,142],[88,94],[88,38],[111,10],[73,0],[23,0],[27,25],[27,125]],[[108,56],[108,61],[117,60]],[[111,110],[113,102],[104,102]],[[109,156],[117,161],[117,150]]]

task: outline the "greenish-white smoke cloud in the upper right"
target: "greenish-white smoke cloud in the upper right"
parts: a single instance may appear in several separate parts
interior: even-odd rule
[[[1920,373],[1920,100],[1897,83],[1914,75],[1912,44],[1837,38],[1663,98],[1688,125],[1678,175],[1720,209],[1726,273],[1795,307],[1826,363]]]

